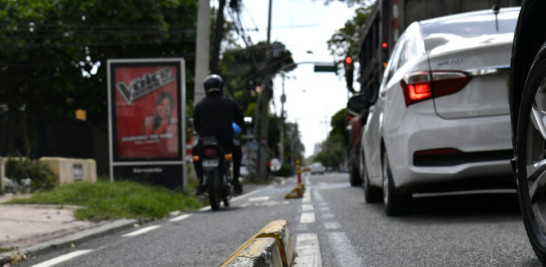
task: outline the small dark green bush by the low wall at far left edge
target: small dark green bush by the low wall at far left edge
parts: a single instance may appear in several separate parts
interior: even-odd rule
[[[22,179],[30,178],[32,192],[51,190],[58,181],[58,177],[45,163],[27,158],[8,159],[6,176],[15,179],[19,184]]]

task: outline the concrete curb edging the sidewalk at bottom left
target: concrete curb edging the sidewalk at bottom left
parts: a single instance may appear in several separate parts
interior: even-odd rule
[[[28,254],[36,255],[45,253],[49,250],[68,247],[74,243],[81,242],[86,239],[103,236],[120,229],[133,227],[137,223],[139,223],[139,221],[135,219],[112,221],[104,224],[99,224],[97,226],[82,231],[73,232],[64,237],[60,237],[43,243],[24,248],[17,248],[10,252],[0,253],[0,265],[10,263],[15,259],[25,258]]]

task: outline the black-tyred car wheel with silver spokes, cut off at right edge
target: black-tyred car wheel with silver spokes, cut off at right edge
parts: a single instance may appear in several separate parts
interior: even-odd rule
[[[546,43],[525,81],[516,132],[516,179],[525,230],[546,263]]]

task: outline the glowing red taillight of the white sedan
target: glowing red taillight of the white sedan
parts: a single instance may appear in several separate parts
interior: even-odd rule
[[[458,92],[468,81],[470,76],[460,71],[418,71],[404,77],[400,85],[404,92],[406,106],[409,106],[433,97]]]

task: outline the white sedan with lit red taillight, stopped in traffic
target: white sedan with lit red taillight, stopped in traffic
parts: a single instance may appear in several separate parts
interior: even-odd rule
[[[420,190],[513,182],[500,177],[512,176],[508,77],[518,14],[439,17],[400,36],[363,129],[366,202],[383,199],[396,215]]]

